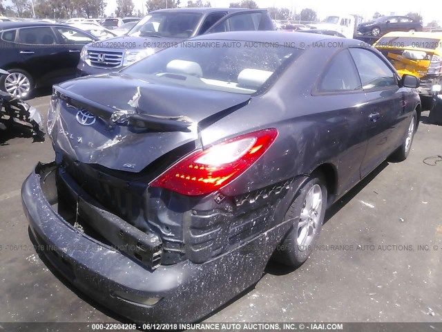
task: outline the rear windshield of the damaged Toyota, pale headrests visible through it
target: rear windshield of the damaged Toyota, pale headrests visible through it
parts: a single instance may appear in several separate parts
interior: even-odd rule
[[[122,73],[147,82],[254,93],[301,52],[282,44],[194,40],[155,53]]]

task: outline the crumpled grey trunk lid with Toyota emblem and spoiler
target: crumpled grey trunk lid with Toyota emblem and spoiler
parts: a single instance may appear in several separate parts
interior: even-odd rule
[[[155,84],[122,73],[83,77],[54,90],[48,133],[55,150],[126,172],[140,172],[186,143],[201,146],[202,129],[250,100],[250,95]]]

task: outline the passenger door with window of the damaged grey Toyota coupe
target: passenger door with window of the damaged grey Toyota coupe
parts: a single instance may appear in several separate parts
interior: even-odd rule
[[[398,133],[404,122],[404,95],[398,75],[377,53],[367,48],[350,48],[362,89],[367,97],[365,120],[369,124],[367,151],[361,165],[366,176],[380,165],[401,139]]]

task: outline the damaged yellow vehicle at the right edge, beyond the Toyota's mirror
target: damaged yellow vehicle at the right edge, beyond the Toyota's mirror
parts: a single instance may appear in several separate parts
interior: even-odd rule
[[[422,104],[442,124],[442,33],[387,33],[374,47],[400,75],[419,77]]]

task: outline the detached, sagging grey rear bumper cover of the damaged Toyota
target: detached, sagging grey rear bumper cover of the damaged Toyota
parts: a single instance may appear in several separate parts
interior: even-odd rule
[[[41,167],[46,165],[36,169]],[[149,270],[65,221],[51,205],[56,192],[55,183],[50,187],[37,171],[21,188],[23,210],[41,252],[79,290],[134,322],[200,320],[258,282],[289,228],[281,223],[204,264],[183,261]]]

